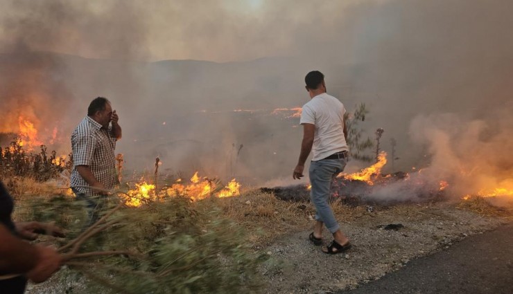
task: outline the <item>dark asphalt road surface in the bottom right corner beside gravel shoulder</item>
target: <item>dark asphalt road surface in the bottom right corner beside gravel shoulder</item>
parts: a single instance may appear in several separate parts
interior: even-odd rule
[[[513,294],[513,223],[414,259],[375,282],[336,292],[348,293]]]

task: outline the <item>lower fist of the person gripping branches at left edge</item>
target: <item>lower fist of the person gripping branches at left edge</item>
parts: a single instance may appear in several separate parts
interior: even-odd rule
[[[34,283],[41,283],[60,268],[62,257],[51,247],[35,245],[35,248],[39,258],[26,276]]]

